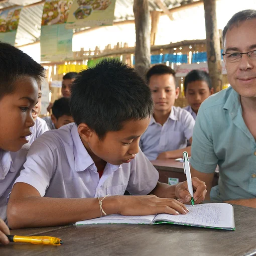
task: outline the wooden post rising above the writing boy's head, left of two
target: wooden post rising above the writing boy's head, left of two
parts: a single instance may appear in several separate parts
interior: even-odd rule
[[[135,69],[144,78],[151,63],[149,16],[149,1],[134,0],[136,30]]]

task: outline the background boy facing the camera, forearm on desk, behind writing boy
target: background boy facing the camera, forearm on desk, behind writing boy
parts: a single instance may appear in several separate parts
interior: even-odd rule
[[[164,65],[153,66],[147,80],[155,103],[147,131],[142,135],[140,147],[149,160],[190,155],[195,120],[180,107],[174,106],[180,89],[176,84],[175,71]]]

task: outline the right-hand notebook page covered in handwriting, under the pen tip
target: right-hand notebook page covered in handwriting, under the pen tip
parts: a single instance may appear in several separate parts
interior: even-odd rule
[[[234,227],[233,206],[227,203],[211,203],[211,204],[197,204],[186,205],[189,209],[187,214],[170,215],[158,214],[155,221],[170,221],[176,223],[200,225],[219,228]]]

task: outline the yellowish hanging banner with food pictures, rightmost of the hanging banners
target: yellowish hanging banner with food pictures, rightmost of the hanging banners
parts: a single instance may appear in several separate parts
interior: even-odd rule
[[[111,26],[116,0],[74,0],[66,28]]]

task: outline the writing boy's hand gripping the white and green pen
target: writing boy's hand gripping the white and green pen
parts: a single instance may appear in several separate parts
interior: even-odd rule
[[[205,182],[200,181],[198,178],[192,178],[192,185],[194,189],[194,202],[195,204],[199,204],[204,200],[207,192]],[[184,204],[191,203],[191,195],[188,192],[187,181],[180,182],[176,185],[175,195],[180,202]]]

